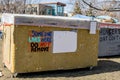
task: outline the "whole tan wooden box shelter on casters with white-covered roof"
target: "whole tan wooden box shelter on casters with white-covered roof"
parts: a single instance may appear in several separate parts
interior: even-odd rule
[[[53,16],[3,14],[3,63],[13,73],[97,65],[97,23]]]

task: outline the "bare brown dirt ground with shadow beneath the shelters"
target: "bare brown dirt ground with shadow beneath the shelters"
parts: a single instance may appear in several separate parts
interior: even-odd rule
[[[66,71],[50,71],[19,74],[11,78],[11,73],[2,65],[0,41],[0,70],[3,75],[0,80],[120,80],[120,56],[98,59],[98,66],[92,70],[75,69]]]

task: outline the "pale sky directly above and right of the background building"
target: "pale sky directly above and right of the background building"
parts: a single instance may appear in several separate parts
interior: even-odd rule
[[[45,3],[45,2],[62,2],[66,4],[65,12],[71,12],[73,10],[73,5],[70,4],[69,0],[27,0],[27,3]]]

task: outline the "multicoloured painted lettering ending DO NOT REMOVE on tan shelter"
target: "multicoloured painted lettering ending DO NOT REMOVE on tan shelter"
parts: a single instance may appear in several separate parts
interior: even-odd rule
[[[28,42],[31,52],[48,52],[52,43],[52,32],[30,31]]]

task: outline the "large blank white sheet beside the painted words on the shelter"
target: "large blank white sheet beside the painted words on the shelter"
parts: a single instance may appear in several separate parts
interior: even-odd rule
[[[53,53],[75,52],[77,50],[77,32],[54,31]]]

